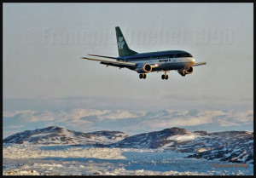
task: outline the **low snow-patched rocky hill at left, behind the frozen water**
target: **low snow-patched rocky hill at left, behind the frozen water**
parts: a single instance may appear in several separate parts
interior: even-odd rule
[[[76,132],[50,126],[44,129],[26,130],[10,135],[3,143],[38,144],[38,145],[107,145],[127,137],[119,131],[96,131],[91,133]]]

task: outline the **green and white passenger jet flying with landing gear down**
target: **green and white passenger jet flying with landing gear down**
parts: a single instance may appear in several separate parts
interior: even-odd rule
[[[139,73],[139,78],[147,78],[146,73],[149,72],[165,72],[161,78],[168,79],[167,72],[176,70],[181,76],[186,76],[194,72],[193,66],[206,65],[207,62],[195,63],[195,59],[188,52],[183,50],[166,50],[148,53],[137,53],[129,49],[125,41],[125,37],[119,26],[115,27],[116,38],[119,50],[119,57],[111,57],[105,55],[90,55],[112,60],[100,60],[90,57],[82,57],[86,60],[100,61],[100,64],[107,66],[116,66],[128,68]]]

